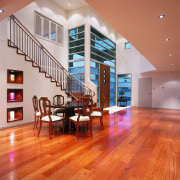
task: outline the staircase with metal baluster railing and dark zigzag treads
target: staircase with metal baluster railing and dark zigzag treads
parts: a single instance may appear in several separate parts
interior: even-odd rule
[[[73,100],[78,100],[82,95],[95,95],[94,91],[71,75],[13,15],[10,16],[8,46],[16,48],[17,54],[24,55],[26,61],[32,62],[33,67],[39,68],[39,72],[45,73],[45,77],[55,82]]]

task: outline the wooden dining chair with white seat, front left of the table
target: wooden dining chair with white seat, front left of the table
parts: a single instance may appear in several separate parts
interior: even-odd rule
[[[41,97],[39,99],[39,107],[41,111],[41,118],[40,118],[40,126],[39,126],[39,132],[38,137],[41,131],[42,122],[49,124],[49,138],[51,139],[51,133],[52,133],[52,125],[55,122],[63,121],[63,133],[64,133],[64,117],[51,115],[51,107],[50,107],[50,100],[47,97]]]

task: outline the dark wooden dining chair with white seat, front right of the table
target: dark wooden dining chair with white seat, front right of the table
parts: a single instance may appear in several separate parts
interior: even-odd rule
[[[79,125],[90,124],[90,134],[92,136],[92,118],[91,118],[91,107],[92,98],[82,96],[77,102],[77,115],[69,117],[69,134],[71,133],[71,122],[76,124],[76,136],[79,139]]]

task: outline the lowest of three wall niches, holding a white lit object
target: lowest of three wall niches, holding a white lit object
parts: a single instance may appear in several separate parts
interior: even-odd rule
[[[7,108],[7,122],[23,120],[23,107]]]

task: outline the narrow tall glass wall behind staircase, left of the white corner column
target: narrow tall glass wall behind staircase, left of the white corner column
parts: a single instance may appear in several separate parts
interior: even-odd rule
[[[84,26],[69,30],[69,72],[84,82]]]

